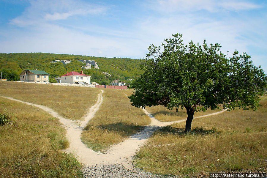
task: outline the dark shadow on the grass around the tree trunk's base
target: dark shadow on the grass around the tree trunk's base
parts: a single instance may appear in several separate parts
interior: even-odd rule
[[[195,127],[194,129],[191,130],[190,133],[185,133],[185,129],[184,128],[177,128],[177,127],[172,127],[171,125],[168,125],[166,127],[163,127],[161,129],[159,129],[157,132],[155,132],[154,134],[161,134],[161,135],[166,135],[166,134],[170,134],[170,135],[178,135],[181,137],[184,136],[189,136],[189,135],[218,135],[220,134],[219,131],[217,131],[217,129],[215,127],[211,128],[211,129],[206,129],[203,127]]]

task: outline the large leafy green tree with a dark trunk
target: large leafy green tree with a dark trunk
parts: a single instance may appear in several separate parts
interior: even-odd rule
[[[185,131],[191,131],[195,111],[216,109],[257,109],[259,95],[267,84],[266,75],[255,67],[248,54],[227,58],[221,45],[184,45],[181,34],[165,39],[161,46],[151,45],[143,61],[144,73],[135,81],[129,96],[132,105],[162,105],[168,109],[185,108]],[[162,49],[162,48],[163,49]]]

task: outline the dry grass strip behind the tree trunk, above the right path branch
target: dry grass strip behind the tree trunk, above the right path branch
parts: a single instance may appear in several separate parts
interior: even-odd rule
[[[178,112],[176,112],[175,108],[173,110],[169,110],[163,106],[158,105],[158,106],[146,107],[146,110],[161,122],[178,121],[187,118],[187,112],[185,108],[184,109],[179,108]],[[194,117],[211,114],[218,111],[221,111],[221,109],[216,109],[216,110],[207,109],[206,112],[195,112]]]

